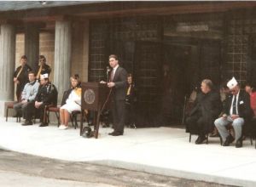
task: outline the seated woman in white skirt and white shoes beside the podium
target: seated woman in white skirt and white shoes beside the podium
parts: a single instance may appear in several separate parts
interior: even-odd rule
[[[65,130],[68,128],[68,122],[70,118],[70,114],[73,111],[81,111],[81,82],[79,80],[79,75],[76,74],[73,77],[70,77],[70,82],[72,88],[65,92],[61,103],[60,109],[60,119],[61,125],[59,129]]]

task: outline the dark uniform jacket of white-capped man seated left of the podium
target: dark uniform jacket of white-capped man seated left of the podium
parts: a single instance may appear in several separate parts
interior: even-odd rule
[[[41,86],[35,100],[43,102],[45,105],[57,105],[58,91],[55,85],[48,82],[46,85]]]

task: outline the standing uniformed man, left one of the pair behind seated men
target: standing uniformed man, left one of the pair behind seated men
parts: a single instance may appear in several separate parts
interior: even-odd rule
[[[17,67],[14,74],[14,82],[17,85],[16,97],[17,100],[20,98],[20,94],[28,81],[28,72],[32,71],[31,67],[26,64],[26,55],[21,56],[20,66]]]

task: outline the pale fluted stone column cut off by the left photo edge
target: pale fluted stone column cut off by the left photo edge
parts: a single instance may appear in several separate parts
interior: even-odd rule
[[[15,26],[1,25],[0,36],[0,116],[3,116],[5,101],[14,99],[13,74],[15,72]]]

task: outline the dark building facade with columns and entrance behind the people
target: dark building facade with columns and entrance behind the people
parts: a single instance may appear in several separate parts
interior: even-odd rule
[[[96,2],[2,11],[2,105],[14,98],[12,73],[22,54],[32,67],[38,54],[46,56],[59,99],[73,73],[84,82],[106,79],[108,55],[118,54],[137,86],[138,123],[160,125],[163,116],[180,122],[184,97],[202,79],[220,85],[233,76],[241,84],[256,78],[255,6]]]

